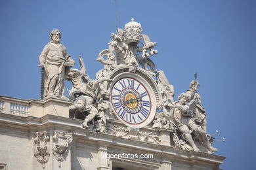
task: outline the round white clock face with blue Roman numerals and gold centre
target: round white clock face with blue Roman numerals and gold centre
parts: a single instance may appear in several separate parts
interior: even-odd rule
[[[150,90],[137,78],[123,77],[111,88],[111,103],[117,118],[128,126],[141,127],[152,111]]]

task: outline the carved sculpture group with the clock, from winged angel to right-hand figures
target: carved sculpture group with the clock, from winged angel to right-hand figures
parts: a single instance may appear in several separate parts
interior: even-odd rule
[[[65,74],[73,85],[69,92],[70,116],[83,119],[81,126],[89,131],[155,144],[160,144],[156,133],[139,129],[146,126],[168,129],[177,148],[216,152],[206,131],[206,111],[198,93],[197,76],[190,82],[190,89],[174,101],[173,85],[150,59],[158,54],[154,50],[157,43],[142,34],[142,25],[132,19],[111,37],[108,49],[99,52],[96,58],[104,68],[96,73],[95,80],[87,75],[81,56],[81,68]],[[125,127],[108,125],[108,120],[119,120]],[[112,129],[107,131],[107,127]],[[62,155],[58,153],[58,160],[63,160]]]

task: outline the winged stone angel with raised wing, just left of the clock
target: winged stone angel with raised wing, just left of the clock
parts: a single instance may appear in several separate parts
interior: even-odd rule
[[[87,116],[85,117],[85,121],[83,122],[83,127],[87,128],[87,123],[93,120],[95,116],[100,113],[100,117],[103,118],[101,109],[98,111],[98,97],[97,97],[97,89],[100,84],[104,81],[111,81],[109,78],[100,77],[97,80],[92,80],[86,74],[86,69],[83,63],[83,58],[79,56],[79,62],[81,64],[81,69],[71,69],[70,73],[67,75],[67,80],[71,80],[73,87],[70,90],[69,95],[70,99],[74,101],[72,105],[70,105],[70,112],[79,111],[81,113],[86,112]],[[102,129],[102,127],[101,127]]]

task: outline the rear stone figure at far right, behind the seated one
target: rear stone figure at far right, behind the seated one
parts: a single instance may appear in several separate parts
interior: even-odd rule
[[[194,120],[198,125],[203,127],[206,132],[206,114],[205,108],[202,106],[201,95],[198,93],[198,87],[200,86],[198,80],[192,80],[190,82],[190,89],[186,93],[190,96],[188,103],[195,100],[193,105],[190,105],[190,110],[194,113]]]

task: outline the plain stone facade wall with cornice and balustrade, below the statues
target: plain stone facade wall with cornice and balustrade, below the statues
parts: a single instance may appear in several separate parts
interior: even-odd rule
[[[8,169],[219,169],[224,156],[206,152],[187,152],[175,148],[171,142],[169,130],[156,130],[144,127],[142,131],[154,131],[161,139],[161,143],[139,141],[129,137],[117,137],[108,133],[93,132],[81,127],[83,120],[58,116],[53,110],[44,115],[30,116],[33,105],[39,105],[37,100],[22,100],[13,97],[0,96],[3,111],[0,113],[0,163]],[[41,110],[49,99],[41,101]],[[53,99],[62,103],[62,99]],[[7,112],[9,103],[23,103],[28,105],[28,115]],[[36,103],[37,101],[37,103]],[[46,105],[49,107],[49,105]],[[54,103],[51,107],[56,107]],[[57,107],[61,112],[65,107]],[[65,110],[65,109],[64,109]],[[66,105],[68,110],[68,105]],[[40,110],[38,109],[38,112]],[[43,112],[43,111],[42,111]],[[110,124],[122,126],[118,120],[110,120]],[[67,155],[63,161],[54,156],[55,131],[72,134],[72,142],[68,143]],[[43,166],[35,157],[35,138],[37,133],[45,132],[49,137],[49,160]],[[104,154],[153,154],[150,159],[113,158],[106,160]],[[43,168],[45,167],[45,168]]]

